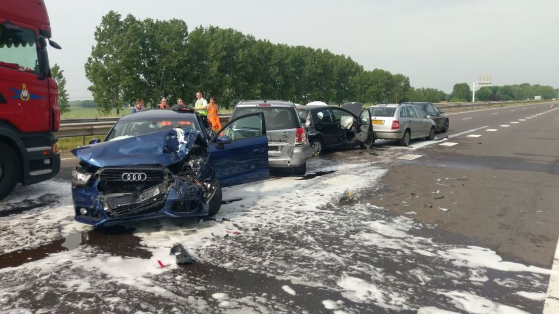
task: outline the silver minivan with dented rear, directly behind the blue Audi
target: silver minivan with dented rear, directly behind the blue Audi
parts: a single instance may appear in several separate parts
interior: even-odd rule
[[[270,168],[294,168],[297,175],[304,175],[312,150],[295,104],[290,101],[240,101],[231,118],[253,112],[264,113]]]

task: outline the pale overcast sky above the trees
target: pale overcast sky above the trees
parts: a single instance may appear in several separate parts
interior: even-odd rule
[[[454,83],[492,75],[494,85],[559,88],[559,0],[45,0],[50,50],[70,99],[91,99],[84,64],[101,17],[180,18],[189,30],[215,25],[257,39],[349,55],[366,70],[451,92]]]

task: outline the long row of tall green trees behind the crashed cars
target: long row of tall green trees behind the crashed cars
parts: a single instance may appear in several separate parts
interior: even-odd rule
[[[122,18],[110,11],[94,35],[85,68],[102,111],[136,98],[151,106],[163,96],[190,103],[197,91],[225,107],[240,99],[400,102],[410,100],[410,91],[414,97],[430,92],[411,88],[405,75],[364,70],[349,56],[272,44],[231,28],[188,32],[182,20]]]

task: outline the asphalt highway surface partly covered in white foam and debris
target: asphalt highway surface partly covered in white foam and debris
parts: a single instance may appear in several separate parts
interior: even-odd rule
[[[64,155],[57,178],[0,203],[0,311],[557,313],[549,105],[326,153],[305,177],[224,189],[212,220],[77,223]],[[176,264],[177,243],[195,263]]]

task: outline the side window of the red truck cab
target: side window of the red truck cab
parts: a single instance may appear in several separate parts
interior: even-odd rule
[[[0,24],[0,66],[39,74],[36,42],[35,31],[14,31]]]

